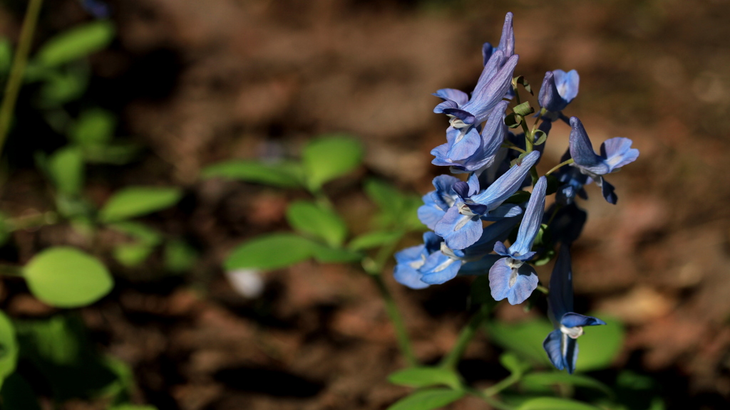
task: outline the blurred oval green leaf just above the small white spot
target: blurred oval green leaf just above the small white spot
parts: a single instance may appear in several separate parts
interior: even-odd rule
[[[316,244],[294,233],[271,233],[240,244],[228,255],[227,271],[256,268],[273,270],[291,266],[314,255]]]

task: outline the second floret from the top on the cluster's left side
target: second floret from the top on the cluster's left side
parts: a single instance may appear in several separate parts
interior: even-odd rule
[[[481,134],[476,127],[469,128],[465,133],[449,127],[446,131],[447,143],[431,150],[431,155],[436,157],[431,163],[450,166],[454,173],[481,171],[491,166],[507,134],[507,125],[504,124],[506,109],[507,101],[499,102]]]

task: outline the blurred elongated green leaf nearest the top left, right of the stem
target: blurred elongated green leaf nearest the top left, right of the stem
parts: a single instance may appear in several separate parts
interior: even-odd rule
[[[114,32],[109,20],[75,26],[45,42],[35,61],[47,67],[69,63],[107,47],[114,38]]]

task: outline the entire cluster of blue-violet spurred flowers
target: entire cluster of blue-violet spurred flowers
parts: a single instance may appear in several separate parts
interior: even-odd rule
[[[535,110],[520,102],[518,85],[530,93],[531,88],[514,76],[519,56],[512,13],[504,19],[499,45],[485,43],[483,56],[484,69],[470,95],[450,88],[434,93],[442,99],[434,112],[447,115],[450,125],[446,143],[431,150],[432,163],[466,175],[434,179],[435,189],[423,196],[418,209],[431,231],[423,235],[423,244],[396,254],[394,275],[401,284],[420,289],[457,275],[488,274],[492,297],[514,305],[538,287],[534,263],[546,263],[559,247],[548,295],[548,315],[556,330],[544,347],[557,368],[572,373],[575,339],[583,326],[604,324],[572,312],[569,246],[586,219],[575,197],[587,199],[585,185],[596,182],[606,201],[615,204],[615,188],[604,177],[636,160],[639,151],[631,148],[630,139],[612,138],[596,154],[583,123],[563,114],[578,93],[575,70],[545,74],[539,112],[528,125]],[[510,100],[515,107],[508,113]],[[561,163],[540,177],[536,166],[556,120],[570,126],[569,147]],[[515,135],[510,128],[523,133]],[[523,190],[530,186],[530,193]],[[553,193],[555,201],[546,212],[546,196]]]

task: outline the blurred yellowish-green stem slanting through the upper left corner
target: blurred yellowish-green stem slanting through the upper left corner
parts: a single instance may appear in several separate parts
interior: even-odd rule
[[[23,73],[26,71],[28,53],[31,51],[33,33],[36,30],[42,3],[43,0],[30,1],[26,10],[26,18],[23,19],[23,28],[20,29],[18,48],[15,50],[15,56],[12,59],[10,76],[5,85],[5,95],[0,106],[0,152],[2,152],[5,139],[7,139],[12,113],[15,111],[15,101],[18,101],[18,93],[20,93],[20,86],[23,85]]]

